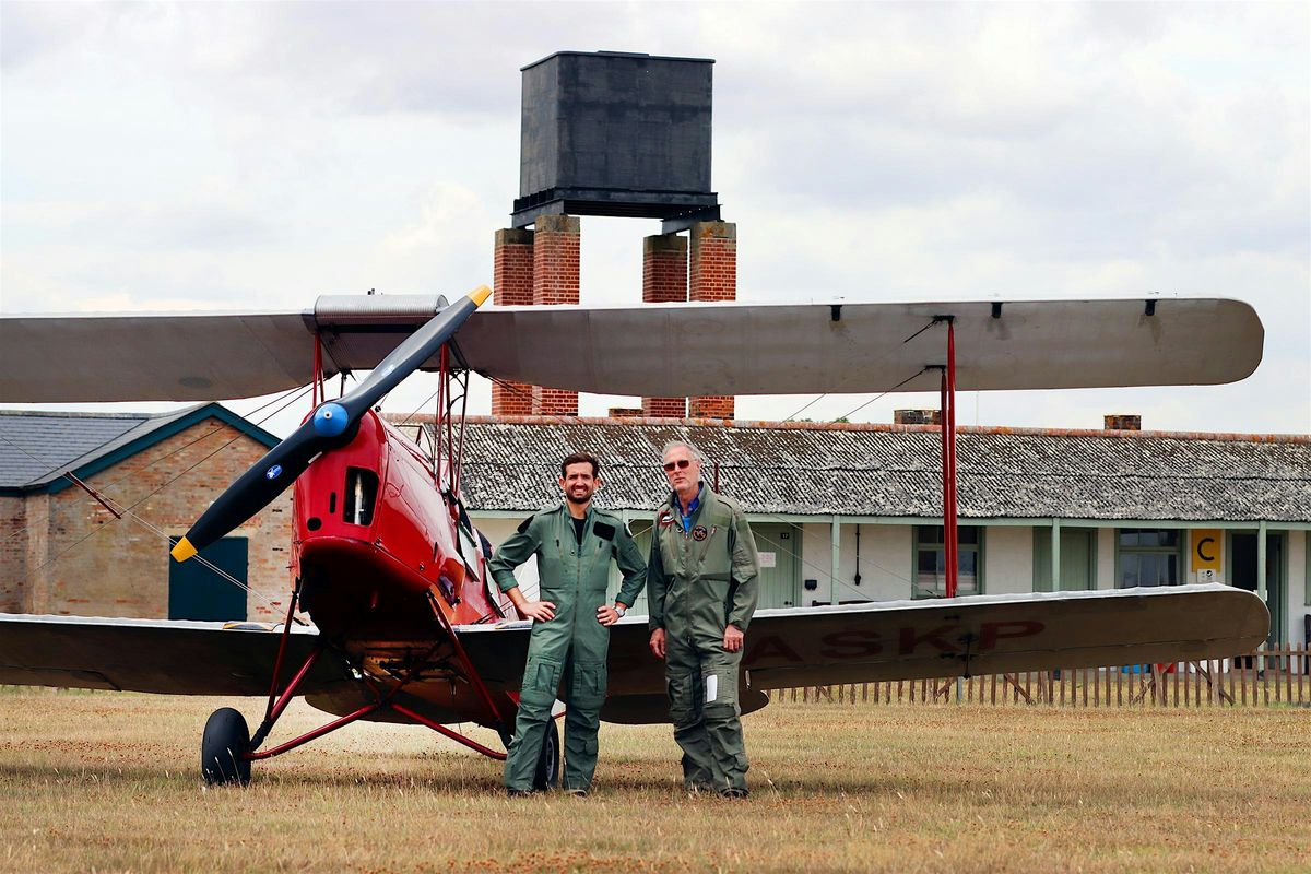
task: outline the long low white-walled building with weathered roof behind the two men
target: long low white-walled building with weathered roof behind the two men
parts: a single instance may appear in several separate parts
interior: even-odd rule
[[[943,594],[935,425],[469,417],[464,498],[498,544],[558,503],[560,459],[585,449],[598,506],[642,544],[670,439],[749,511],[762,607]],[[1311,632],[1311,438],[961,427],[957,451],[962,595],[1210,580],[1260,594],[1274,642]]]

